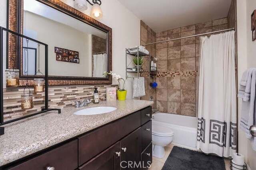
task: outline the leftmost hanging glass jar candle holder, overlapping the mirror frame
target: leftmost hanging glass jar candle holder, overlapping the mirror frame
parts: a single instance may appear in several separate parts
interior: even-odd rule
[[[20,70],[18,69],[6,69],[6,87],[18,87],[20,84]]]

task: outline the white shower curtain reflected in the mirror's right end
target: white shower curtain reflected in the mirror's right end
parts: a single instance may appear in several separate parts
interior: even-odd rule
[[[106,53],[93,55],[93,77],[103,77],[107,67],[106,58]]]

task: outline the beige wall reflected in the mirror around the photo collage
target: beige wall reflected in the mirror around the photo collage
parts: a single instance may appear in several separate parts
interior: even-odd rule
[[[89,62],[91,61],[89,51],[92,50],[88,48],[88,43],[90,42],[88,34],[27,11],[24,11],[23,24],[24,30],[36,32],[36,39],[48,44],[49,75],[92,76],[92,65],[88,64],[91,63]],[[80,63],[56,61],[54,47],[78,51]],[[41,54],[43,54],[43,51]],[[42,63],[40,70],[43,70],[44,57],[41,57],[40,60],[42,60],[40,61]],[[84,67],[84,65],[87,65],[87,67]]]

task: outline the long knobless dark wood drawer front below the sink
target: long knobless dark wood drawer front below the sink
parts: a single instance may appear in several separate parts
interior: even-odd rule
[[[78,138],[79,166],[140,127],[140,112],[133,113]]]

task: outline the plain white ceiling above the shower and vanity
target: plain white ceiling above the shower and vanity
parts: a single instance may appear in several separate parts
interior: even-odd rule
[[[228,16],[231,0],[119,0],[155,32]]]

